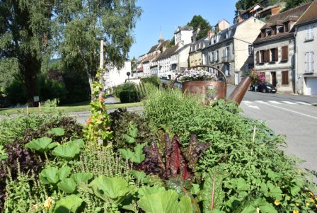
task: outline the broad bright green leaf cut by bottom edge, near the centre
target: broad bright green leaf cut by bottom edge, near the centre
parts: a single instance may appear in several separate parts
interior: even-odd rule
[[[192,212],[190,198],[186,197],[181,202],[178,202],[178,193],[174,190],[168,190],[144,195],[137,203],[144,212]]]

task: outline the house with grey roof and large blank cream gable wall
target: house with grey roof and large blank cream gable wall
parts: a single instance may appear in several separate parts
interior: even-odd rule
[[[231,25],[214,34],[202,50],[203,61],[224,72],[229,84],[237,85],[245,72],[253,68],[253,41],[265,23],[257,18]]]

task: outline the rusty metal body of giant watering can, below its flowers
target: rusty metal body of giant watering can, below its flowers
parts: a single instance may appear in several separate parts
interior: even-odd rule
[[[190,94],[202,94],[205,104],[212,100],[226,97],[225,81],[184,81],[183,92]]]

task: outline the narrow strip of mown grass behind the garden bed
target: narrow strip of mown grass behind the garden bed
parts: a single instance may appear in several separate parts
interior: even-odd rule
[[[115,104],[107,104],[108,110],[113,110],[117,108],[132,108],[137,106],[143,106],[142,102],[137,103],[115,103]],[[90,102],[85,101],[81,103],[73,103],[69,105],[63,105],[58,107],[42,107],[41,113],[52,113],[54,111],[59,111],[62,113],[75,113],[75,112],[83,112],[90,111]],[[39,108],[28,108],[29,113],[39,113]],[[12,109],[4,109],[0,108],[0,115],[13,115],[13,114],[26,114],[26,108],[12,108]]]

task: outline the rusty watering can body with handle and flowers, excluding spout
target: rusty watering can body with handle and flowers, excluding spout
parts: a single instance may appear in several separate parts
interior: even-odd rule
[[[213,68],[217,72],[211,73],[208,68]],[[205,104],[226,97],[226,76],[215,67],[208,65],[195,66],[185,70],[179,76],[181,76],[183,92],[202,95],[202,101]]]

